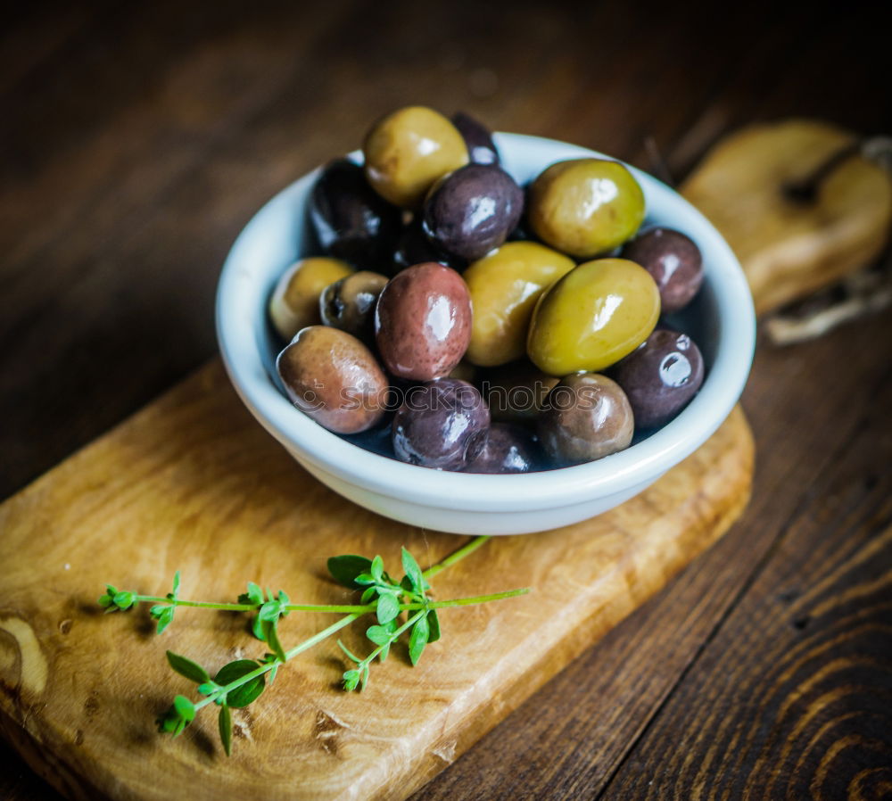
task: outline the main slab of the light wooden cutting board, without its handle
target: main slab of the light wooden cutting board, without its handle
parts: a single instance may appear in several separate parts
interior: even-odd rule
[[[160,637],[145,607],[102,615],[104,582],[143,594],[234,600],[252,580],[294,602],[350,603],[326,557],[425,566],[467,538],[396,524],[341,499],[249,416],[219,362],[180,384],[0,507],[0,725],[71,798],[402,798],[450,764],[550,676],[706,549],[747,502],[753,443],[739,409],[698,452],[607,515],[497,538],[434,581],[439,598],[514,587],[530,595],[441,613],[417,667],[404,648],[367,690],[338,689],[326,640],[234,710],[234,754],[216,714],[179,739],[154,718],[191,685],[170,648],[216,669],[262,656],[244,617],[179,609]],[[293,613],[285,648],[334,622]],[[367,652],[368,622],[343,639]],[[582,691],[582,690],[581,690]]]

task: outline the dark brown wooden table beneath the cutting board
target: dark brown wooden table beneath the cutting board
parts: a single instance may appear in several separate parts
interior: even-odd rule
[[[19,4],[0,32],[0,497],[214,352],[262,202],[399,105],[675,178],[724,132],[892,133],[872,13]],[[747,514],[417,797],[892,797],[892,318],[760,342]],[[0,745],[0,797],[57,797]]]

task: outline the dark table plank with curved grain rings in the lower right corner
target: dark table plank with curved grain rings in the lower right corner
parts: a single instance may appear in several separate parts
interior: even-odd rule
[[[818,480],[784,481],[796,511],[605,797],[888,797],[892,373],[863,378],[846,435]]]

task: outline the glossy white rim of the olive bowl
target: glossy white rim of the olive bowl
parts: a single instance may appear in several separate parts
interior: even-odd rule
[[[503,156],[515,151],[547,150],[549,163],[579,157],[620,161],[540,136],[498,132],[494,139]],[[361,154],[350,155],[361,161]],[[714,361],[703,386],[678,417],[648,439],[606,458],[573,467],[512,475],[452,473],[409,465],[365,450],[295,409],[268,376],[255,335],[257,314],[266,314],[266,297],[260,309],[252,308],[255,301],[251,292],[245,292],[245,282],[250,284],[252,264],[258,263],[255,251],[260,228],[268,224],[267,217],[283,205],[298,202],[319,168],[286,186],[253,215],[235,239],[221,270],[216,300],[217,338],[236,392],[260,424],[299,461],[309,460],[318,470],[367,491],[436,508],[481,512],[558,508],[654,480],[697,450],[731,413],[752,363],[756,314],[739,261],[708,219],[657,178],[620,163],[640,183],[648,206],[655,199],[680,204],[679,209],[697,221],[697,240],[704,252],[706,279],[714,294],[718,319]]]

